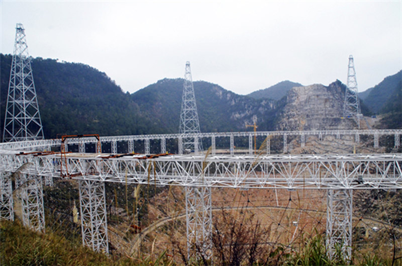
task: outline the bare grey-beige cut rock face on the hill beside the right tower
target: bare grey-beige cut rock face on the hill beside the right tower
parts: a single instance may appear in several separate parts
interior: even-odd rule
[[[337,80],[329,86],[313,84],[293,87],[278,114],[277,130],[351,129],[353,122],[342,119],[345,85]]]

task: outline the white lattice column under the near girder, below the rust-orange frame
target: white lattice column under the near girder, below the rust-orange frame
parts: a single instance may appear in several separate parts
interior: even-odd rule
[[[109,252],[105,183],[79,180],[82,244]]]

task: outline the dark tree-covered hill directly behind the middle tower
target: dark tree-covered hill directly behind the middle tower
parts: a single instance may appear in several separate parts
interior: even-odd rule
[[[182,78],[164,78],[132,94],[132,100],[168,133],[176,133],[183,83]],[[253,115],[257,115],[261,130],[272,129],[268,121],[273,117],[274,101],[237,95],[206,81],[194,81],[193,85],[202,132],[245,131],[245,123],[251,123]]]

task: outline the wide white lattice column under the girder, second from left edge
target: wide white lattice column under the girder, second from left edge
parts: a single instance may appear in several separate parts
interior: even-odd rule
[[[22,220],[26,227],[35,231],[45,231],[43,209],[43,185],[40,176],[20,174],[16,178],[16,190],[21,200]]]

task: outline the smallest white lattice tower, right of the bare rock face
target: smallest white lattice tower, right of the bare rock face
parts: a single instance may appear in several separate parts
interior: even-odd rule
[[[360,104],[357,90],[356,72],[352,55],[349,55],[348,80],[345,92],[345,103],[343,106],[343,116],[345,118],[353,118],[360,129]]]

